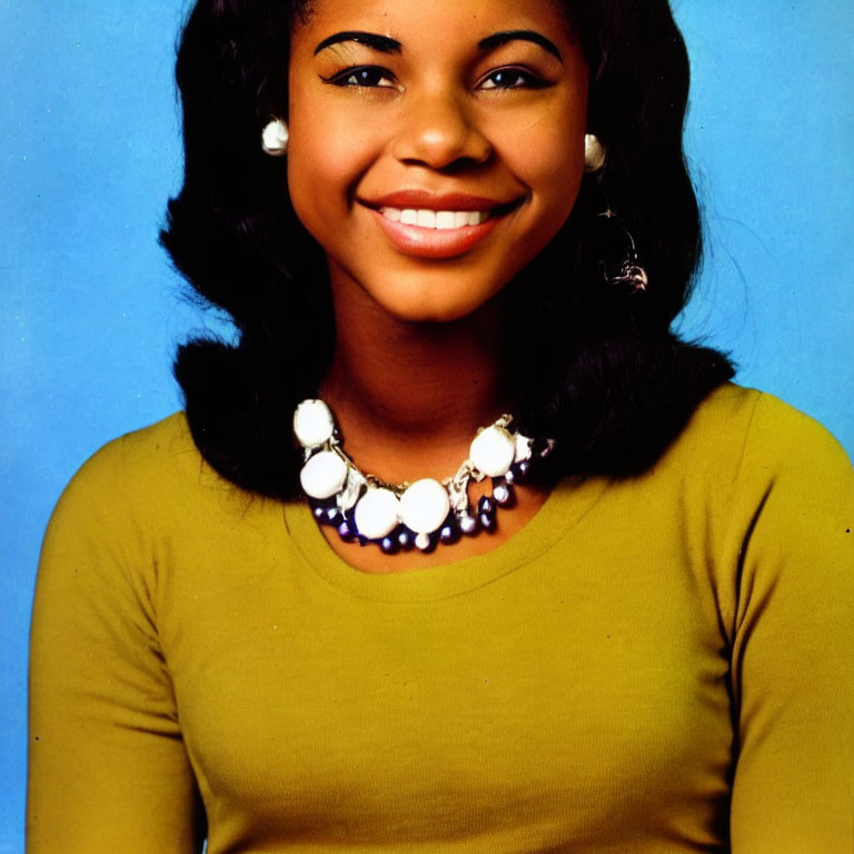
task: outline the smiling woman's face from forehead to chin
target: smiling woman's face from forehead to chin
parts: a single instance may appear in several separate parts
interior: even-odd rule
[[[319,0],[291,37],[288,183],[334,291],[394,317],[483,306],[584,171],[588,69],[553,0]]]

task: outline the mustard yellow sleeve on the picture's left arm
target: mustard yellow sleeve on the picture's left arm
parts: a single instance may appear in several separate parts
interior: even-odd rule
[[[122,440],[51,519],[32,619],[29,854],[201,850],[201,811],[160,649],[156,562],[125,497]]]

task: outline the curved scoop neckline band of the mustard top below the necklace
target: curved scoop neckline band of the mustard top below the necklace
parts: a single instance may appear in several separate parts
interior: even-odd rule
[[[607,483],[604,477],[565,478],[527,525],[490,552],[399,573],[366,573],[350,566],[326,542],[307,503],[289,502],[282,513],[292,546],[329,585],[374,602],[438,602],[476,590],[548,552],[596,504]]]

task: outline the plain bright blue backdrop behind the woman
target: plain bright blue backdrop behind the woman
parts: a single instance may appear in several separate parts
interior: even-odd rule
[[[96,448],[179,406],[175,345],[216,328],[157,247],[180,178],[186,7],[0,0],[0,853],[23,845],[27,630],[50,510]],[[854,6],[674,9],[707,221],[682,328],[852,454]]]

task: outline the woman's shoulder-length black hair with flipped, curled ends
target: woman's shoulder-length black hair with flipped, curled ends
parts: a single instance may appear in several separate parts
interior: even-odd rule
[[[733,376],[727,358],[669,327],[701,257],[682,149],[688,61],[667,0],[565,0],[590,63],[588,126],[607,165],[585,178],[567,222],[500,299],[506,389],[522,428],[558,441],[558,474],[648,468],[697,404]],[[321,248],[297,219],[282,160],[261,128],[286,115],[288,43],[306,0],[198,0],[177,80],[185,181],[161,241],[196,292],[232,318],[237,341],[191,340],[176,377],[203,457],[265,495],[298,491],[294,408],[315,396],[335,342]],[[613,209],[618,218],[599,216]],[[608,275],[630,231],[648,275]]]

